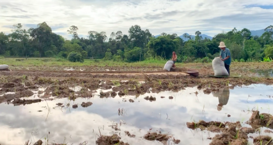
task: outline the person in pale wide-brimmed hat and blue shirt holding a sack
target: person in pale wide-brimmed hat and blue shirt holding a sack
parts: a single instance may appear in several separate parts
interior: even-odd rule
[[[221,48],[220,58],[224,61],[224,67],[228,70],[230,76],[231,51],[229,48],[225,48],[224,42],[220,42],[219,47]]]

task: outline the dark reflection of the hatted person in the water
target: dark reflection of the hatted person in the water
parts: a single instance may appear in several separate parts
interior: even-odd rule
[[[228,104],[230,98],[230,89],[219,89],[219,92],[212,92],[214,97],[218,97],[219,104],[217,105],[217,110],[221,111],[223,105]]]

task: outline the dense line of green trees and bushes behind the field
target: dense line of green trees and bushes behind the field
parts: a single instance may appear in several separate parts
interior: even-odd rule
[[[261,37],[251,36],[248,29],[220,33],[212,40],[202,38],[201,32],[195,38],[187,34],[184,41],[177,34],[162,33],[155,38],[149,30],[140,26],[131,26],[128,35],[121,31],[112,32],[108,39],[105,32],[89,31],[88,38],[79,38],[78,28],[71,26],[67,32],[71,40],[52,32],[43,22],[37,28],[23,29],[21,24],[14,25],[12,33],[0,33],[0,55],[24,57],[59,57],[69,61],[83,61],[83,58],[103,58],[114,61],[141,61],[145,59],[171,58],[172,51],[178,55],[178,62],[193,59],[203,61],[219,55],[219,42],[231,50],[234,61],[257,61],[273,57],[273,26],[268,26]],[[81,55],[81,56],[80,56]],[[68,58],[68,56],[70,56]],[[76,58],[74,58],[74,56]],[[73,58],[72,58],[73,57]],[[205,58],[204,58],[205,57]]]

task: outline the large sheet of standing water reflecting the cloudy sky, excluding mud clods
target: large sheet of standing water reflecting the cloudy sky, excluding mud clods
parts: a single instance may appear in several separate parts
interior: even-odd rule
[[[94,93],[94,98],[78,98],[74,102],[64,98],[25,106],[2,103],[0,104],[0,134],[2,134],[0,144],[22,144],[27,140],[34,142],[40,138],[43,138],[44,142],[44,137],[48,137],[53,143],[65,141],[68,144],[79,144],[88,141],[87,144],[95,144],[98,138],[96,134],[119,135],[119,132],[121,140],[129,144],[161,144],[143,138],[150,129],[172,134],[175,139],[181,140],[178,144],[209,144],[211,140],[207,138],[213,137],[215,133],[207,130],[191,130],[187,128],[186,123],[199,120],[240,121],[242,126],[250,127],[244,124],[251,116],[251,112],[247,110],[254,108],[260,113],[273,113],[270,108],[273,103],[272,90],[273,86],[250,85],[234,90],[219,90],[218,93],[209,95],[197,88],[186,88],[179,92],[166,91],[158,94],[100,98],[100,91],[107,92],[111,89],[99,89]],[[155,97],[156,100],[145,100],[146,96]],[[130,99],[134,102],[130,102]],[[82,102],[93,104],[83,108],[80,105]],[[56,107],[57,103],[63,103],[65,107]],[[70,107],[66,106],[68,103]],[[78,108],[73,109],[72,105],[75,104]],[[228,114],[231,116],[228,117]],[[115,123],[118,123],[120,130],[109,127]],[[273,133],[264,133],[265,129],[261,128],[263,135],[273,135]],[[124,131],[129,131],[135,137],[125,135]],[[253,137],[258,135],[258,133],[249,134]],[[249,142],[253,144],[251,138]]]

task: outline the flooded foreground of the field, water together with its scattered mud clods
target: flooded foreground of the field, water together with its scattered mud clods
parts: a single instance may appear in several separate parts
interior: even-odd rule
[[[25,87],[34,84],[24,83]],[[70,86],[68,93],[62,92],[64,88],[47,85],[21,89],[20,93],[12,89],[3,92],[4,84],[0,94],[0,101],[6,99],[0,104],[0,144],[25,144],[26,141],[34,144],[39,139],[43,144],[254,144],[253,140],[256,144],[272,143],[270,138],[267,141],[255,138],[273,135],[271,116],[266,122],[268,125],[263,127],[246,123],[256,111],[273,113],[272,85],[224,84],[225,87],[214,91],[205,89],[213,85],[165,91],[153,91],[155,86],[150,86],[147,91],[129,93],[130,89],[122,88],[119,83],[113,82],[109,87],[100,82],[97,89],[87,87],[87,90],[83,85]],[[138,90],[142,88],[140,83],[145,84],[139,82],[130,88]],[[6,88],[16,88],[16,85],[6,84]],[[29,90],[31,92],[26,92]],[[268,114],[256,115],[265,120]],[[237,128],[232,128],[231,122]],[[242,127],[253,130],[247,132]],[[232,131],[234,138],[229,138]],[[229,134],[219,138],[221,132]]]

